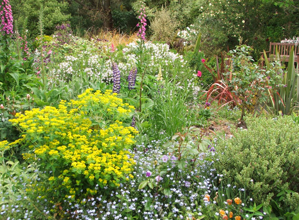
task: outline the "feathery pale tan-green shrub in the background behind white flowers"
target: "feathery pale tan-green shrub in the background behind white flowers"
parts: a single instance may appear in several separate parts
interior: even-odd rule
[[[171,45],[176,36],[178,25],[179,23],[171,16],[171,12],[162,7],[160,11],[155,13],[155,17],[150,23],[150,29],[152,31],[150,39],[165,41]]]

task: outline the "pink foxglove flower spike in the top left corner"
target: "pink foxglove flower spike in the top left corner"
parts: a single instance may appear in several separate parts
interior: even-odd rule
[[[0,0],[0,31],[3,34],[12,34],[13,17],[9,0]]]

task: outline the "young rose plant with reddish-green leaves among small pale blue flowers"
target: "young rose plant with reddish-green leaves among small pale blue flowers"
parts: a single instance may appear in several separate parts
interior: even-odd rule
[[[205,131],[197,127],[190,127],[183,133],[175,133],[171,140],[166,142],[163,147],[167,150],[167,155],[163,155],[158,161],[158,172],[152,176],[155,178],[149,178],[140,183],[139,189],[143,189],[149,186],[150,189],[156,188],[156,191],[161,191],[164,195],[170,196],[171,186],[175,181],[170,181],[168,178],[171,172],[175,173],[175,179],[180,179],[180,171],[191,172],[198,165],[203,163],[204,160],[197,160],[200,153],[207,152],[208,146],[211,142],[204,138]],[[205,158],[207,159],[207,158]],[[171,171],[167,169],[171,166]],[[180,170],[180,171],[179,171]],[[151,176],[151,174],[149,175]],[[162,176],[164,178],[162,178]],[[165,177],[166,176],[166,177]],[[161,184],[160,182],[163,181]],[[172,178],[173,179],[173,178]]]

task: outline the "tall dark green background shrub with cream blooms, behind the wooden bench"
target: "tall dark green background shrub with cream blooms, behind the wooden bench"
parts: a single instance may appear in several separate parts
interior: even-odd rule
[[[207,55],[238,45],[241,37],[256,49],[254,57],[259,59],[259,52],[268,47],[269,41],[292,37],[298,30],[296,10],[279,7],[270,0],[211,0],[202,2],[199,11],[195,23],[199,24],[202,49]]]

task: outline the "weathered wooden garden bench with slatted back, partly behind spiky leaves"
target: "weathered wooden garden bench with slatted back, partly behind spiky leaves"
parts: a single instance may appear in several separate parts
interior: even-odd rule
[[[274,61],[276,58],[276,48],[278,50],[278,53],[280,55],[280,60],[283,62],[289,62],[289,58],[290,58],[290,52],[291,52],[291,48],[292,46],[294,46],[294,63],[299,63],[299,45],[296,46],[296,44],[294,43],[273,43],[270,42],[270,49],[269,51],[266,51],[266,55],[268,58],[268,61]],[[262,66],[264,66],[264,52],[262,52]]]

